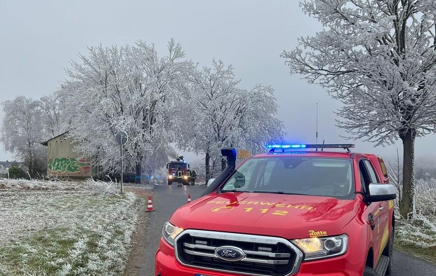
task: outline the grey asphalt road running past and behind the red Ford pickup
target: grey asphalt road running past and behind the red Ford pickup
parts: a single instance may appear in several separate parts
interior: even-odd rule
[[[150,226],[147,230],[146,243],[149,244],[145,254],[147,264],[140,275],[154,276],[155,253],[160,241],[163,224],[180,206],[187,203],[187,195],[192,199],[199,197],[204,190],[201,186],[156,186],[153,196],[153,207],[156,211],[150,213]],[[153,269],[150,269],[153,267]],[[394,273],[392,276],[436,276],[436,266],[406,253],[394,252]]]

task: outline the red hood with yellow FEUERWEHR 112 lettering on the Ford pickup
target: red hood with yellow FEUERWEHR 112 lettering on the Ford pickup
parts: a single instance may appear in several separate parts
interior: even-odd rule
[[[175,211],[170,222],[184,229],[297,239],[343,234],[358,210],[358,200],[237,192],[205,195]]]

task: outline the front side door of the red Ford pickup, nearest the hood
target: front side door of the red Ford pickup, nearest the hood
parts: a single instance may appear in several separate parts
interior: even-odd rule
[[[367,160],[360,159],[358,164],[359,164],[361,191],[364,194],[368,194],[369,184],[372,183],[374,179],[372,178],[370,171],[368,171],[365,161]],[[377,261],[379,257],[378,253],[380,252],[380,248],[381,248],[380,246],[381,235],[380,235],[379,224],[381,223],[382,220],[380,205],[378,204],[378,202],[368,205],[363,215],[364,215],[364,219],[367,219],[369,227],[371,228],[369,238],[373,246],[374,259]]]

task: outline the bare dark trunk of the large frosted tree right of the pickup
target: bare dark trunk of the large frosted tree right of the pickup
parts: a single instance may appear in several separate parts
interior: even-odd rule
[[[403,140],[403,193],[400,202],[400,214],[405,219],[411,217],[413,211],[413,195],[415,192],[415,130],[400,133]]]

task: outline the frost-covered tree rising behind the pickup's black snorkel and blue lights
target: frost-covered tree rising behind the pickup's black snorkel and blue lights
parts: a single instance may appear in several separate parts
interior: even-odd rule
[[[189,122],[180,130],[178,146],[205,155],[206,178],[212,177],[211,160],[220,158],[226,146],[264,150],[265,142],[282,137],[282,123],[276,119],[277,102],[269,86],[251,90],[239,88],[233,67],[213,61],[191,77],[191,106],[184,117]],[[221,168],[225,161],[221,160]]]

